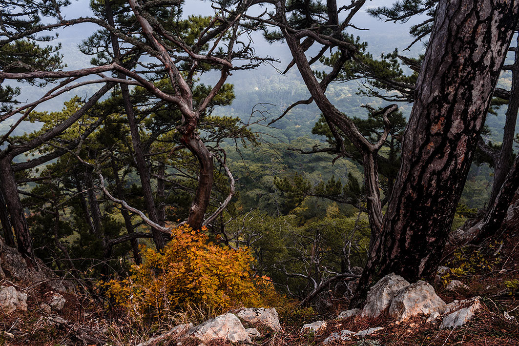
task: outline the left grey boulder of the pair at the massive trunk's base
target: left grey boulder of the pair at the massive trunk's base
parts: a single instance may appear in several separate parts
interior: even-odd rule
[[[366,305],[362,309],[363,317],[377,317],[391,305],[394,295],[409,286],[407,280],[394,273],[384,276],[367,293]]]

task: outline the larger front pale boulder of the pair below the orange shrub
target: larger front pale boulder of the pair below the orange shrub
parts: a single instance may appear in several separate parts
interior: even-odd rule
[[[187,334],[201,342],[223,339],[230,342],[251,343],[251,338],[243,328],[240,319],[232,313],[216,316],[214,319],[189,329]]]

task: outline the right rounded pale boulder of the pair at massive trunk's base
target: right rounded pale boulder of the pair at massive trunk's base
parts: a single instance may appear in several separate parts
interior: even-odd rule
[[[425,315],[427,321],[439,317],[446,308],[445,302],[436,295],[434,288],[425,281],[418,281],[402,288],[391,301],[389,314],[397,321]]]

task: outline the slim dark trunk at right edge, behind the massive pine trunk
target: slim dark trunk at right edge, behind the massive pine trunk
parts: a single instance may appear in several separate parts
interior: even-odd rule
[[[519,47],[519,35],[517,36],[517,45]],[[515,60],[512,65],[512,88],[510,89],[510,100],[508,102],[507,120],[504,124],[503,144],[497,160],[496,169],[494,171],[494,185],[488,200],[487,213],[491,213],[494,202],[501,191],[501,186],[506,179],[510,168],[510,157],[512,156],[515,123],[517,122],[517,111],[519,110],[519,49],[515,49]]]

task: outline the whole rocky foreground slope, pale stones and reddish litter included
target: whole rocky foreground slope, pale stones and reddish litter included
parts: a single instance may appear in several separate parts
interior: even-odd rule
[[[0,345],[519,345],[518,244],[510,232],[458,251],[430,283],[390,274],[363,309],[237,309],[151,329],[126,321],[80,280],[63,281],[41,262],[28,267],[0,238]]]

